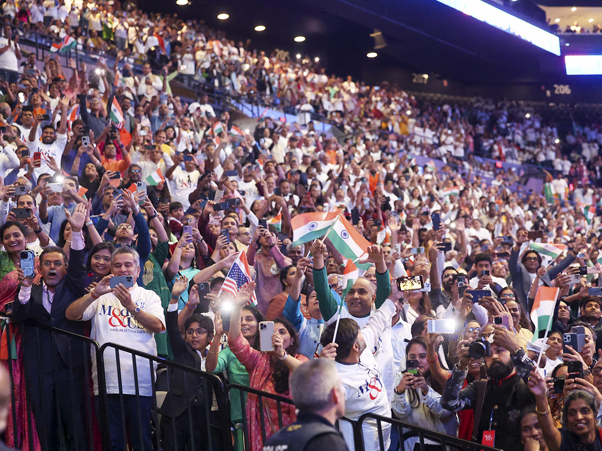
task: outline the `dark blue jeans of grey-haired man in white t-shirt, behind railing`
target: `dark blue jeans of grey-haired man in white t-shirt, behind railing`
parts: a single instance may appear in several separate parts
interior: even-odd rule
[[[134,394],[123,395],[123,408],[125,409],[123,416],[125,416],[126,428],[135,451],[152,451],[152,396],[139,396],[138,399],[140,402],[140,412],[138,412],[136,396]],[[140,415],[141,429],[138,429],[138,414]],[[111,451],[124,451],[128,449],[128,436],[123,437],[123,423],[121,419],[122,411],[119,394],[107,394],[107,421]],[[140,443],[140,435],[142,435],[143,445]]]

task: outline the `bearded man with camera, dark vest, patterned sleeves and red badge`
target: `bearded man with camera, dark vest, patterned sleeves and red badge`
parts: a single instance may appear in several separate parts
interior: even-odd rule
[[[471,363],[468,342],[462,340],[458,343],[458,363],[445,382],[441,407],[455,412],[480,410],[479,418],[475,414],[473,441],[482,442],[483,432],[493,431],[492,446],[514,451],[523,447],[518,423],[521,410],[534,402],[526,384],[534,365],[518,344],[515,333],[498,325],[486,325],[480,330],[479,337],[489,339],[492,334],[491,351],[485,355],[489,380],[482,398],[478,395],[479,381],[462,388]]]

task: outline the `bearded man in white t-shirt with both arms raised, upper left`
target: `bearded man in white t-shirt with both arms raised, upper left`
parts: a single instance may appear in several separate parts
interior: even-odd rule
[[[67,105],[69,105],[69,99],[61,99],[58,103],[57,108],[60,109],[61,121],[58,124],[58,129],[55,132],[54,127],[50,124],[42,127],[42,142],[37,139],[37,129],[40,122],[42,122],[43,116],[37,115],[31,130],[29,130],[29,136],[25,141],[27,149],[29,149],[29,155],[32,156],[36,152],[42,153],[42,160],[40,167],[34,169],[34,176],[36,179],[42,174],[54,174],[54,170],[48,166],[50,157],[54,158],[57,167],[61,167],[61,158],[63,157],[63,150],[67,145]]]

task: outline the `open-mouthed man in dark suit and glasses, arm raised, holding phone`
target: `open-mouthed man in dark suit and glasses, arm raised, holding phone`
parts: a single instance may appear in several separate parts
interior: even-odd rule
[[[46,247],[40,254],[37,272],[41,283],[25,278],[18,268],[20,286],[11,320],[34,320],[42,324],[83,335],[81,323],[67,321],[65,310],[84,294],[85,249],[81,233],[85,222],[85,204],[78,204],[67,220],[72,227],[70,260],[62,248]],[[84,421],[84,341],[22,324],[23,364],[29,405],[36,419],[42,449],[58,450],[59,431],[66,428],[70,449],[88,449]]]

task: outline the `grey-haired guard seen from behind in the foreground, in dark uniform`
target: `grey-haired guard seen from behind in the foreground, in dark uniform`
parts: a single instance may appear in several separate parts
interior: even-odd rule
[[[335,422],[345,414],[345,393],[337,367],[327,358],[298,366],[289,378],[299,409],[297,421],[272,435],[263,451],[349,451]]]

